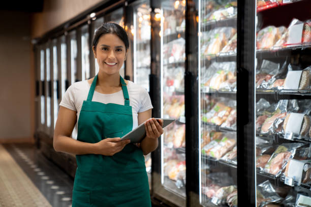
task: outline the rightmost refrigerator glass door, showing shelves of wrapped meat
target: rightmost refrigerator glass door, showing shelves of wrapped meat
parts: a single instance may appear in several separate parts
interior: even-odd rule
[[[257,1],[257,206],[311,205],[310,1]]]

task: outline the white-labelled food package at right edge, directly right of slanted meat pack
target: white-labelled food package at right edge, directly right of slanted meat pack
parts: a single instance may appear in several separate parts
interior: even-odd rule
[[[297,183],[311,183],[311,160],[289,159],[284,175]]]

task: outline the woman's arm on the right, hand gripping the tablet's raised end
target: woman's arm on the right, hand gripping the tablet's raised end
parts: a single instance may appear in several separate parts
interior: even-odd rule
[[[151,118],[151,109],[138,113],[138,125]],[[158,138],[163,133],[163,120],[160,123],[155,119],[150,119],[145,123],[146,137],[141,141],[140,147],[144,155],[149,154],[158,147]]]

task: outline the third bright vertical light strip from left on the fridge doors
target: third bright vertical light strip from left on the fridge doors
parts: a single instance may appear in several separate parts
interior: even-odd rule
[[[58,80],[58,71],[57,71],[57,49],[56,45],[53,46],[53,100],[54,100],[54,127],[56,124],[57,114],[58,114],[58,99],[57,99],[57,80]]]

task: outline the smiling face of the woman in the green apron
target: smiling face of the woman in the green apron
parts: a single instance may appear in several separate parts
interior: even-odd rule
[[[107,75],[119,74],[127,51],[125,44],[118,36],[111,33],[104,34],[98,40],[96,48],[93,47],[93,52],[101,72]]]

